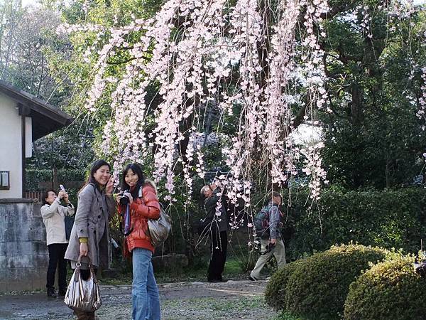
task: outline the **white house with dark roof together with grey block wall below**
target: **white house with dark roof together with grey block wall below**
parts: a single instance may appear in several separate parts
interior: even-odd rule
[[[41,203],[25,198],[32,142],[72,117],[0,80],[0,292],[45,287],[48,247]]]

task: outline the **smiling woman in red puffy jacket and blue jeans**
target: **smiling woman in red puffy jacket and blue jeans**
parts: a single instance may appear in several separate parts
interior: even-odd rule
[[[160,299],[151,258],[154,247],[149,237],[148,218],[160,217],[157,190],[145,181],[140,164],[129,164],[123,171],[121,190],[116,197],[119,213],[123,216],[126,249],[133,262],[132,318],[133,320],[160,319]],[[127,214],[126,214],[127,213]]]

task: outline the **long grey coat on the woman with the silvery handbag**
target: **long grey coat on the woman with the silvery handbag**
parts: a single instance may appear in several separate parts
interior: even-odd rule
[[[80,255],[79,238],[87,238],[89,247],[88,256],[94,267],[109,268],[109,218],[115,212],[115,203],[112,196],[105,195],[104,191],[89,183],[78,195],[75,223],[71,230],[65,259],[76,262]],[[82,262],[88,263],[87,257]]]

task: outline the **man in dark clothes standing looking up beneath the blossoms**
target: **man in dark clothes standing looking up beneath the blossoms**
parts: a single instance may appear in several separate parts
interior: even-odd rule
[[[226,262],[226,247],[228,245],[228,222],[226,210],[222,203],[222,189],[216,184],[208,184],[202,187],[204,196],[204,209],[206,210],[207,228],[210,238],[210,262],[207,270],[208,282],[226,282],[222,277]]]

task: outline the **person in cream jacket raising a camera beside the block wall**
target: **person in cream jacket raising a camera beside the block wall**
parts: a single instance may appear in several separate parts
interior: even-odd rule
[[[66,207],[60,205],[60,201]],[[43,196],[43,206],[40,209],[43,223],[46,227],[46,242],[49,250],[49,265],[46,274],[46,288],[48,297],[55,298],[55,272],[58,266],[58,294],[65,296],[67,292],[67,262],[64,259],[68,240],[65,237],[65,215],[74,215],[74,206],[70,203],[68,194],[59,191],[58,196],[54,190],[48,190]]]

